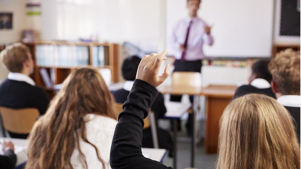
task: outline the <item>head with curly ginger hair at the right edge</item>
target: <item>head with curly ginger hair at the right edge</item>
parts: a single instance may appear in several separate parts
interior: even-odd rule
[[[270,62],[269,70],[276,97],[300,95],[300,51],[287,49],[279,52]]]

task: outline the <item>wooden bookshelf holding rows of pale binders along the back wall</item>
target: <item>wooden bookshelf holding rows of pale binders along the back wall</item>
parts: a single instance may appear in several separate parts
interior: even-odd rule
[[[50,69],[53,69],[55,75],[55,82],[54,85],[62,83],[67,76],[81,67],[93,67],[97,69],[108,68],[111,70],[111,78],[112,82],[118,82],[119,75],[118,75],[118,44],[115,43],[98,43],[98,42],[56,42],[56,41],[49,41],[49,42],[31,42],[25,43],[30,48],[30,52],[32,54],[33,59],[35,60],[35,72],[31,75],[31,78],[35,81],[37,86],[42,87],[48,95],[52,98],[55,95],[55,92],[52,88],[47,88],[43,78],[40,74],[40,69],[45,68],[47,72],[50,72]],[[58,46],[87,46],[89,48],[89,63],[85,65],[79,66],[41,66],[37,63],[36,57],[36,50],[37,46],[39,45],[50,45],[54,48]],[[94,46],[103,46],[104,48],[104,57],[105,57],[105,64],[102,66],[93,65],[93,47]]]

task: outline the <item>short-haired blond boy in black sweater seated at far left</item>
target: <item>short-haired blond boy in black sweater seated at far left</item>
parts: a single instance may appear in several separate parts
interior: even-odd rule
[[[1,51],[0,58],[3,66],[10,71],[7,79],[0,84],[0,106],[14,109],[37,108],[43,115],[49,98],[29,77],[33,74],[35,66],[29,48],[22,43],[14,43]],[[10,136],[27,138],[27,135],[11,132]]]

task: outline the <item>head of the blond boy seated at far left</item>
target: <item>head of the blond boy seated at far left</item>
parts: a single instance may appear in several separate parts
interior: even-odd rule
[[[4,67],[10,72],[30,75],[34,72],[34,61],[29,48],[18,42],[7,46],[0,53]]]

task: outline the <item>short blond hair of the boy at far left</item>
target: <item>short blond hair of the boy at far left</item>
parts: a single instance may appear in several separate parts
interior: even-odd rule
[[[10,72],[21,72],[23,69],[23,63],[28,60],[29,48],[23,43],[14,43],[7,46],[0,53],[2,64]]]

